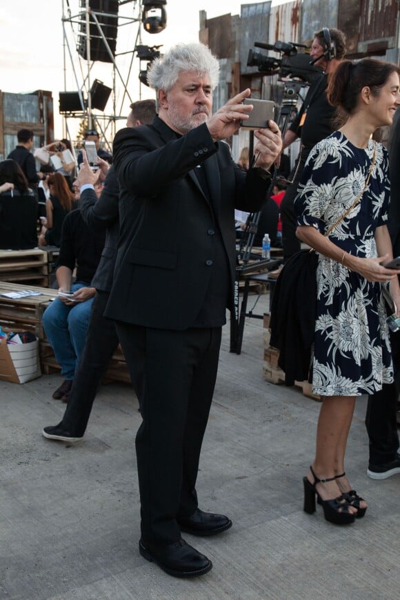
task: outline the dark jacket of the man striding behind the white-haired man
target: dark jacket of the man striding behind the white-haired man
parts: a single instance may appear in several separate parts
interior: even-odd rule
[[[97,290],[109,292],[112,286],[114,266],[117,259],[119,219],[118,219],[119,186],[117,174],[111,166],[108,171],[104,189],[97,199],[94,190],[83,190],[79,208],[83,221],[94,231],[106,229],[106,243],[97,271],[92,279],[92,286]]]

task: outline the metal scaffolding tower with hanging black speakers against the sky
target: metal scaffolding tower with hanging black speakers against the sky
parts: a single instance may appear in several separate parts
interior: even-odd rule
[[[142,4],[79,0],[77,6],[77,0],[62,0],[65,92],[59,102],[63,134],[69,139],[71,119],[75,124],[86,119],[88,130],[97,130],[101,143],[110,146],[117,121],[126,119],[129,104],[141,98],[141,59],[135,52],[141,45]]]

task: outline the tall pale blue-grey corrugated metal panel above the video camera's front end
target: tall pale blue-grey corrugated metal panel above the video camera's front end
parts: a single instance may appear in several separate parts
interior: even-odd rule
[[[268,43],[270,12],[270,1],[241,5],[239,60],[243,74],[257,72],[257,68],[247,66],[248,51],[254,48],[254,41]]]

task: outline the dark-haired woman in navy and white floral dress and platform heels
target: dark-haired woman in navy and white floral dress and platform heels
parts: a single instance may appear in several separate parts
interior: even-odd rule
[[[295,203],[297,237],[319,252],[311,372],[323,403],[315,459],[303,480],[304,510],[314,512],[317,497],[328,521],[347,524],[367,506],[344,472],[355,400],[393,379],[381,284],[390,281],[400,316],[400,271],[383,266],[392,259],[388,154],[371,137],[392,123],[400,104],[399,68],[343,61],[327,94],[345,124],[314,146]]]

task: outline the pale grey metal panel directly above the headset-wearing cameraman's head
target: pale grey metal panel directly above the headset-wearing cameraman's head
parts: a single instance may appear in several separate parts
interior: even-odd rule
[[[314,32],[323,27],[337,28],[339,0],[303,0],[301,3],[300,40],[312,40]]]

